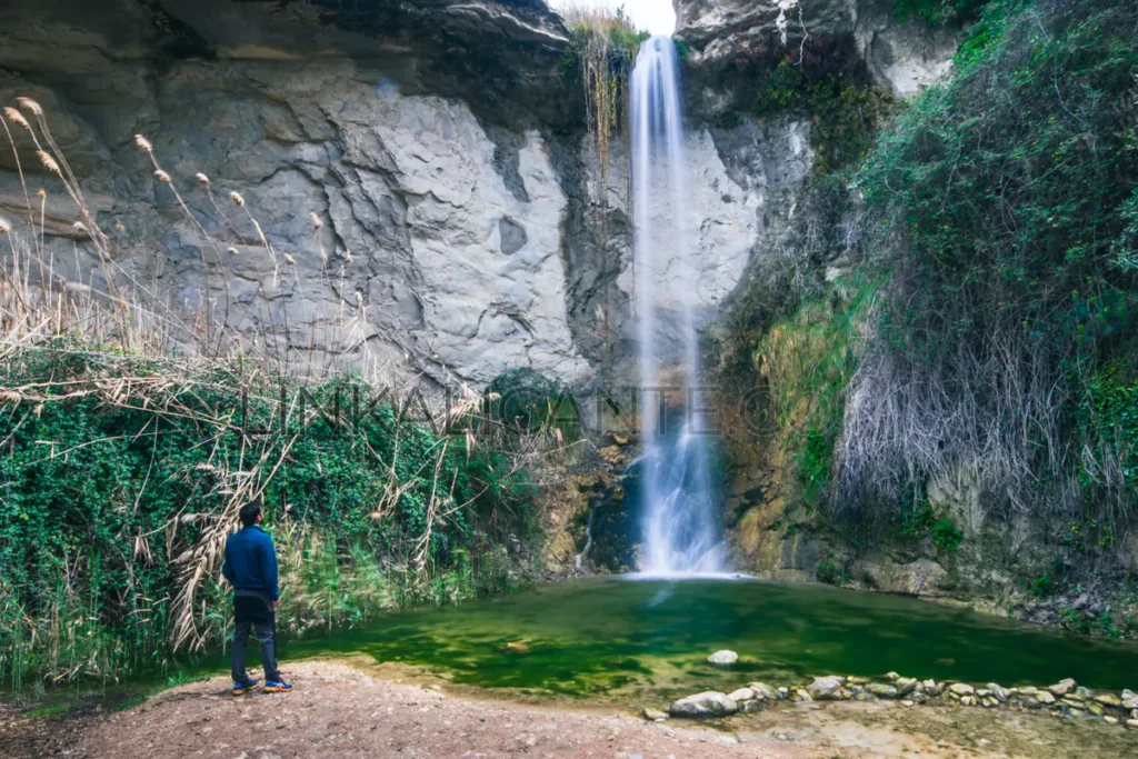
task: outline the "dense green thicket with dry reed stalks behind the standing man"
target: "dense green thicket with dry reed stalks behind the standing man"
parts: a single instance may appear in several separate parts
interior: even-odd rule
[[[473,593],[477,571],[500,571],[480,554],[534,529],[533,488],[505,454],[390,404],[349,419],[346,398],[361,391],[368,411],[372,396],[358,380],[308,388],[305,412],[295,388],[282,406],[281,387],[216,368],[44,347],[0,371],[0,674],[14,685],[118,677],[178,642],[220,642],[216,556],[242,493],[259,489],[291,567],[286,602],[327,625]]]

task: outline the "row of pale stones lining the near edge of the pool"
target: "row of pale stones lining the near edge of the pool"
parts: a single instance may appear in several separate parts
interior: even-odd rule
[[[723,652],[719,652],[723,653]],[[716,655],[716,654],[714,654]],[[724,663],[725,657],[716,655]],[[976,707],[981,709],[1044,710],[1057,716],[1083,717],[1138,729],[1138,694],[1125,690],[1092,691],[1067,678],[1047,687],[1003,687],[997,683],[984,686],[956,680],[918,680],[889,673],[881,678],[827,675],[808,684],[775,687],[750,683],[732,693],[706,691],[683,698],[667,713],[645,709],[644,717],[662,720],[670,717],[711,718],[759,711],[778,701],[805,703],[813,701],[898,701],[902,706]]]

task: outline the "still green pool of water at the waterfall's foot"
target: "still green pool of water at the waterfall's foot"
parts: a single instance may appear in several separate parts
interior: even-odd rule
[[[736,651],[739,663],[708,665],[719,649]],[[287,665],[344,653],[420,666],[455,683],[591,700],[890,670],[1008,686],[1073,677],[1090,687],[1138,687],[1132,643],[882,593],[751,579],[571,580],[393,613],[365,628],[287,642],[280,658]]]

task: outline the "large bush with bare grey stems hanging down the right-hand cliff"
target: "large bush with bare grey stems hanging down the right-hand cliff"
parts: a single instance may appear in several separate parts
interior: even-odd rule
[[[1082,467],[1087,447],[1125,455],[1078,420],[1099,368],[1133,355],[1136,30],[1120,0],[990,3],[858,172],[892,280],[839,446],[851,514],[960,468],[1004,510],[1132,504]]]

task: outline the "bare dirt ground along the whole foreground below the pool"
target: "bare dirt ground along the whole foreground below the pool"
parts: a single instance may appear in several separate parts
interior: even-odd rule
[[[710,724],[648,723],[630,710],[488,701],[351,663],[284,667],[289,694],[233,698],[213,678],[109,715],[0,711],[0,757],[1138,757],[1138,732],[1023,712],[782,704]]]

